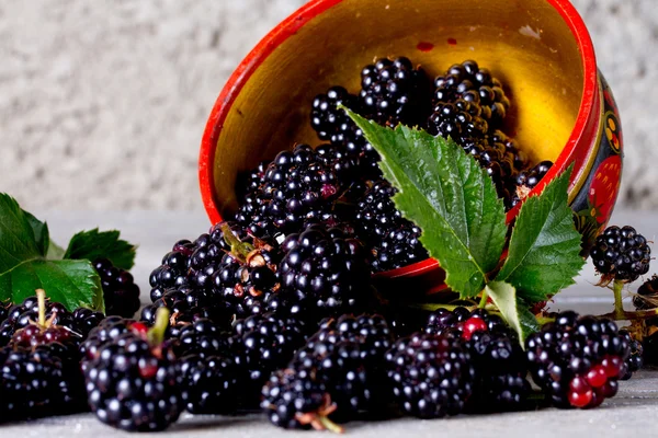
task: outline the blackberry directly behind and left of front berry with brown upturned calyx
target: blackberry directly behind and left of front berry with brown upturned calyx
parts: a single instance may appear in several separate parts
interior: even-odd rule
[[[297,348],[304,345],[305,331],[305,324],[299,319],[276,313],[236,321],[232,351],[237,366],[248,376],[251,388],[261,388],[272,371],[283,368],[291,360]],[[251,394],[246,395],[245,403],[249,405],[252,402],[248,400]]]

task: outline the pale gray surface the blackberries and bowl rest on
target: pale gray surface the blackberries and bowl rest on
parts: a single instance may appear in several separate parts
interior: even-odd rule
[[[99,226],[101,229],[117,228],[132,242],[139,244],[136,280],[141,286],[144,299],[148,298],[148,273],[171,244],[181,238],[193,238],[203,232],[208,222],[201,212],[154,212],[154,211],[33,211],[47,219],[53,239],[66,242],[80,229]],[[638,215],[635,211],[619,211],[614,223],[635,223],[645,235],[654,235],[655,212]],[[580,312],[604,313],[611,309],[612,293],[594,287],[595,276],[588,267],[578,278],[577,285],[556,297],[554,309],[574,309]],[[450,419],[419,420],[402,418],[379,423],[350,423],[348,434],[358,437],[499,437],[510,438],[566,438],[655,436],[658,417],[658,371],[643,371],[631,381],[621,382],[616,397],[605,401],[600,408],[591,411],[543,410],[513,414],[486,416],[458,416]],[[322,433],[329,436],[329,433]],[[47,418],[38,422],[0,426],[0,437],[59,438],[59,437],[118,437],[124,433],[113,430],[99,423],[91,414],[70,417]],[[272,427],[261,415],[242,417],[213,417],[183,415],[181,420],[163,437],[291,437],[320,436],[313,433],[293,433]]]

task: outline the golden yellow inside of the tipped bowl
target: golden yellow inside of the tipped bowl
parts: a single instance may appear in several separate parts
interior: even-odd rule
[[[433,45],[422,51],[419,43]],[[237,173],[294,143],[318,145],[310,103],[331,85],[358,93],[361,69],[407,56],[434,78],[475,59],[506,85],[504,131],[533,161],[554,160],[582,97],[576,39],[546,0],[343,0],[286,38],[253,71],[219,134],[213,175],[220,212]]]

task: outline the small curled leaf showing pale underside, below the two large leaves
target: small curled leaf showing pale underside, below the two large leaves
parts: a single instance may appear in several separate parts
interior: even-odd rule
[[[491,281],[485,291],[500,310],[503,320],[518,333],[519,342],[523,346],[527,335],[538,330],[537,320],[527,309],[527,304],[517,298],[517,289],[509,283]]]

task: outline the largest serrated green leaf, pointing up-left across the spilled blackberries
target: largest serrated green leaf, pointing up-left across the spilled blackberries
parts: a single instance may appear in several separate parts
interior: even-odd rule
[[[379,152],[397,189],[394,201],[422,229],[422,244],[463,298],[478,295],[500,260],[507,226],[491,178],[452,140],[398,126],[395,130],[345,110]]]

